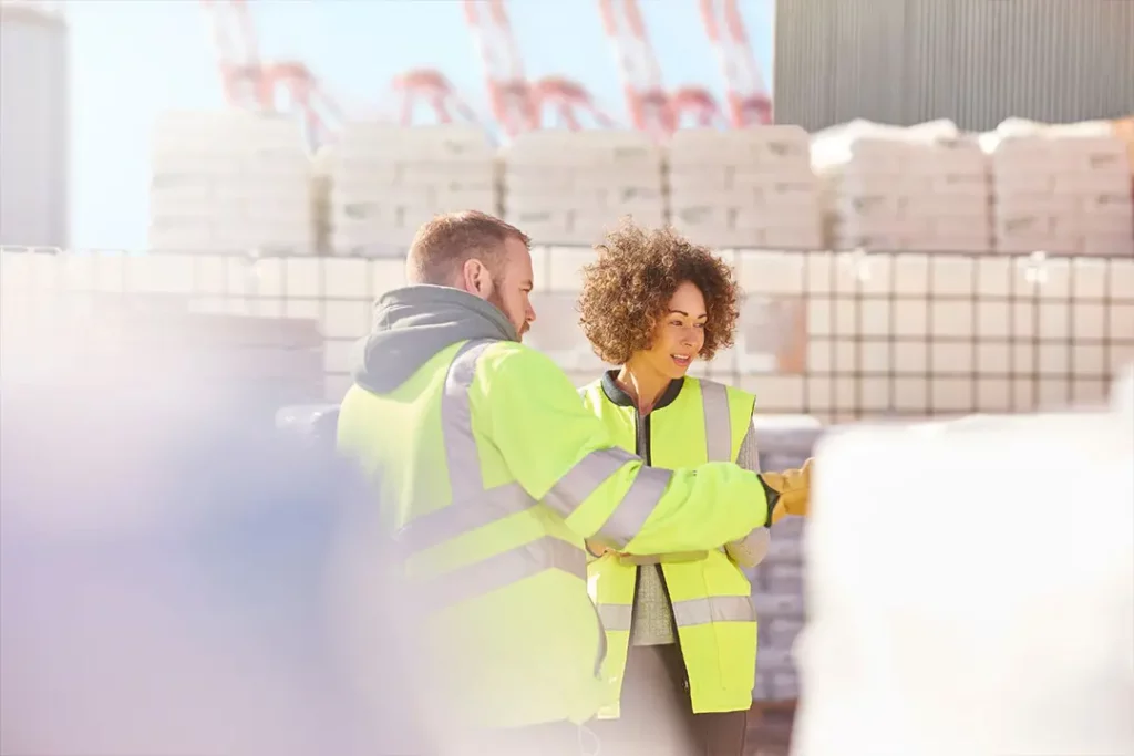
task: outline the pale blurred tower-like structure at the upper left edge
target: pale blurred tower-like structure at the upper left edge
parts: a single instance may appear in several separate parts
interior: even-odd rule
[[[0,3],[0,244],[69,243],[69,48],[58,11]]]

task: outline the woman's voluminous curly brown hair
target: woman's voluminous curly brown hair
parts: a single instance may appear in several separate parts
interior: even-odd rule
[[[654,326],[677,287],[691,281],[705,299],[709,318],[701,357],[712,359],[733,346],[741,291],[733,270],[708,248],[671,229],[646,231],[623,226],[596,245],[599,258],[583,267],[579,324],[594,354],[623,365],[648,349]]]

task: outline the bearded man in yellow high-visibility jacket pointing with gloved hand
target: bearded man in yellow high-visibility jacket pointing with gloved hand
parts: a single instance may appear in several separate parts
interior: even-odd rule
[[[569,723],[611,693],[583,540],[714,549],[765,526],[805,481],[777,491],[731,464],[671,472],[618,449],[567,376],[519,343],[535,321],[532,258],[503,221],[434,218],[406,273],[359,345],[338,440],[381,481],[382,525],[425,613],[423,705],[465,742],[477,731],[481,750],[577,754]]]

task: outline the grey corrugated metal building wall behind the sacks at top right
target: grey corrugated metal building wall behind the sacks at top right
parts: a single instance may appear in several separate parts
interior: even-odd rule
[[[1134,0],[778,0],[776,119],[990,129],[1134,112]]]

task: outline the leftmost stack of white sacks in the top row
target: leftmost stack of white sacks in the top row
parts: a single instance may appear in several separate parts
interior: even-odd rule
[[[152,250],[313,252],[311,158],[296,120],[166,113],[154,126],[151,161]]]

